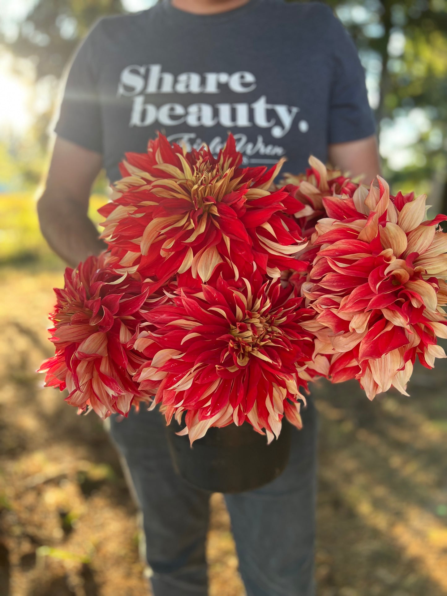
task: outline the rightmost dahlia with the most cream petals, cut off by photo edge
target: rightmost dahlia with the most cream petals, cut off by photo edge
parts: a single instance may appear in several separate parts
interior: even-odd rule
[[[447,217],[424,221],[426,195],[390,197],[377,181],[352,198],[322,198],[327,217],[315,226],[318,254],[302,285],[317,313],[305,327],[327,358],[321,373],[358,379],[370,399],[391,386],[408,395],[415,359],[432,368],[445,358],[437,337],[447,338]]]

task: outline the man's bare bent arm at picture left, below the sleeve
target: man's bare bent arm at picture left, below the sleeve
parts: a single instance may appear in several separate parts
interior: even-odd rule
[[[101,154],[57,136],[38,215],[49,246],[73,267],[105,249],[87,216],[91,187],[101,164]]]

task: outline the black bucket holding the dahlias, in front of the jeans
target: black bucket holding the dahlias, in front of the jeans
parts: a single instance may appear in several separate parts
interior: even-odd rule
[[[290,455],[291,425],[283,419],[278,439],[267,437],[251,424],[212,427],[190,446],[188,436],[172,419],[166,427],[167,442],[176,473],[191,485],[211,492],[252,491],[277,478]]]

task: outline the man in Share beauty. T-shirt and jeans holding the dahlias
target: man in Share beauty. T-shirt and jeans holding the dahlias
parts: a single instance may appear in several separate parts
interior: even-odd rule
[[[364,71],[327,5],[161,0],[103,18],[71,64],[38,201],[42,232],[70,265],[105,247],[87,216],[101,167],[116,181],[124,153],[157,131],[215,153],[231,131],[245,164],[285,156],[295,174],[311,154],[366,182],[380,168]],[[314,594],[316,434],[309,399],[281,476],[225,495],[249,596]],[[209,493],[174,473],[161,416],[112,417],[111,436],[142,510],[154,595],[206,595]]]

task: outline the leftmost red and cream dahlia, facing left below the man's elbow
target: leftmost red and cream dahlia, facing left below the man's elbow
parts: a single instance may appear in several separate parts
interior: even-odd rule
[[[131,275],[114,272],[108,258],[88,257],[77,269],[66,269],[50,315],[56,354],[39,369],[46,387],[67,387],[70,405],[92,408],[102,418],[126,415],[132,403],[147,399],[132,379],[144,359],[128,347],[141,309],[150,308],[147,291]]]

